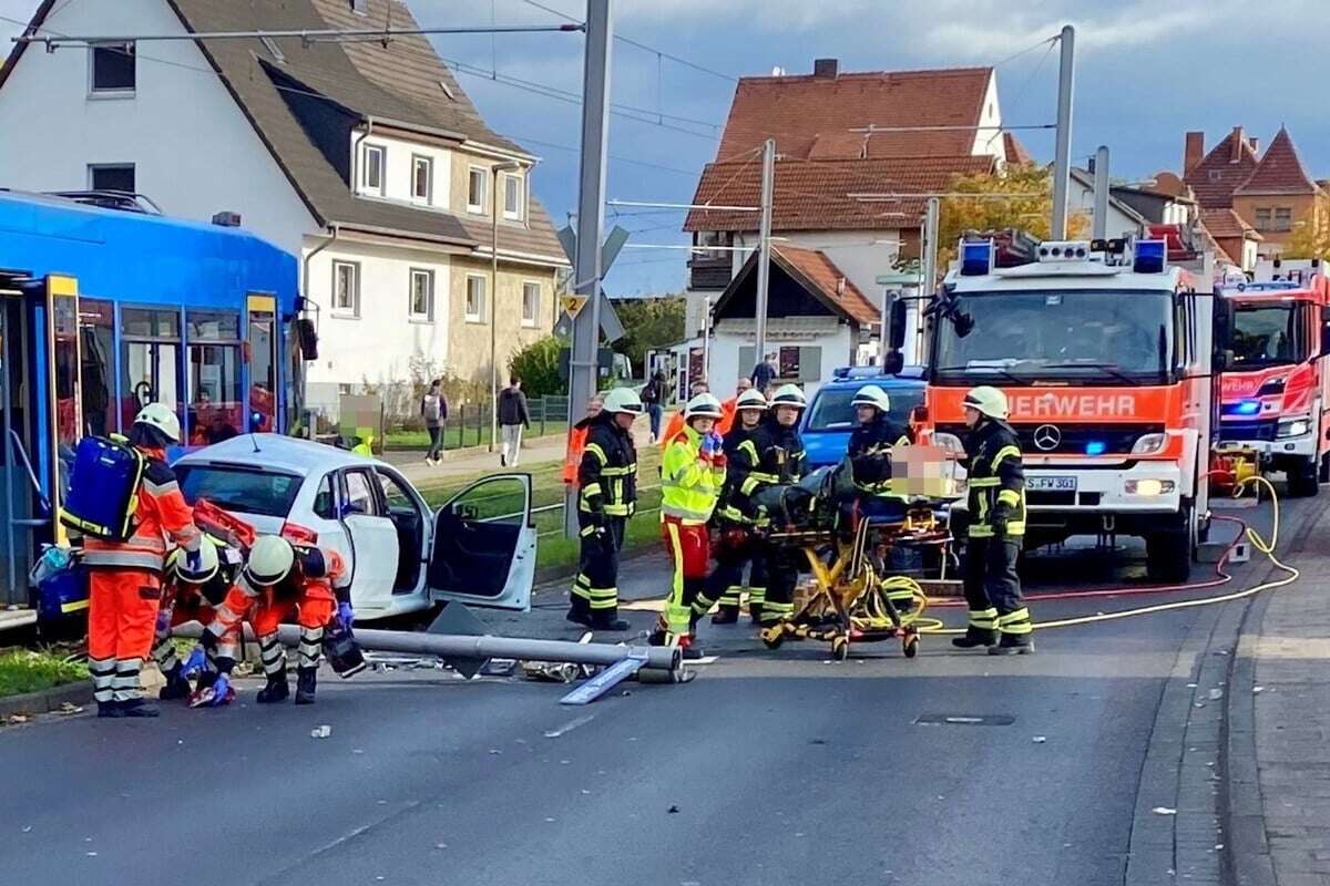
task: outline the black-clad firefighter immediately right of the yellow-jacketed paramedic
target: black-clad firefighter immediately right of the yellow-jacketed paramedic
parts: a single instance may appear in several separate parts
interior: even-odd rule
[[[706,579],[702,598],[694,604],[701,608],[700,615],[702,615],[710,610],[713,602],[720,600],[712,624],[734,624],[739,620],[745,563],[749,565],[749,615],[754,622],[762,620],[762,602],[766,599],[766,558],[762,555],[758,530],[767,521],[745,514],[735,506],[735,497],[738,487],[757,465],[757,445],[753,437],[766,416],[766,406],[762,392],[749,387],[735,397],[734,426],[725,434],[725,486],[714,515],[718,530],[716,567]]]

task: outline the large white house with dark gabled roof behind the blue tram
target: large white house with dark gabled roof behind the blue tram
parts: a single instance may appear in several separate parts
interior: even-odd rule
[[[28,32],[386,21],[415,27],[400,0],[45,0]],[[19,44],[0,69],[0,187],[128,190],[203,221],[231,211],[301,256],[321,339],[310,406],[331,413],[339,393],[412,373],[488,384],[492,357],[503,371],[553,325],[567,259],[531,197],[537,158],[485,125],[423,36]]]

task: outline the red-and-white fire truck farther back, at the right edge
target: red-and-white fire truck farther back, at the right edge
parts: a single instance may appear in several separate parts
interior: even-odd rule
[[[1290,495],[1315,495],[1330,480],[1330,280],[1315,259],[1274,259],[1221,292],[1216,477],[1282,472]]]

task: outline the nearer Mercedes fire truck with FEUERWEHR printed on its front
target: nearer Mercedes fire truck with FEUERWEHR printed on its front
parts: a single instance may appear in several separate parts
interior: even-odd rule
[[[1170,264],[1162,239],[962,242],[927,308],[920,438],[960,450],[966,392],[1001,388],[1024,453],[1027,546],[1138,535],[1153,579],[1185,580],[1209,530],[1210,263]],[[967,523],[954,510],[958,537]]]

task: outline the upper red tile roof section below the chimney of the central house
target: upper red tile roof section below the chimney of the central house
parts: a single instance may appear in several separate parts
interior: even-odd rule
[[[717,158],[742,158],[767,138],[775,139],[778,154],[799,159],[968,154],[974,130],[875,133],[867,139],[849,130],[976,125],[992,76],[992,68],[954,68],[743,77],[734,89]]]

